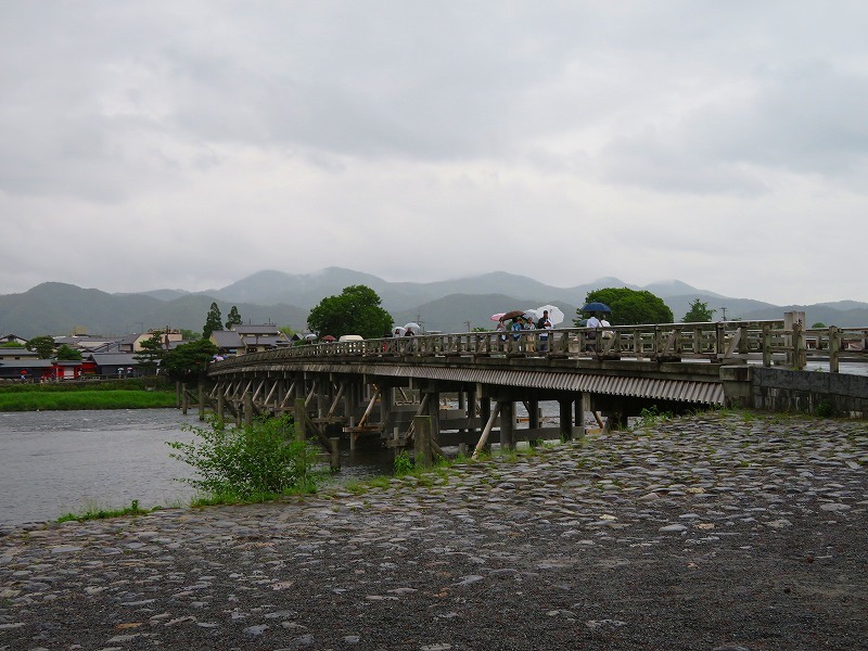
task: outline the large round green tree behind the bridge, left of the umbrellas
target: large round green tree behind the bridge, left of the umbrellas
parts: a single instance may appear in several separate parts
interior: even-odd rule
[[[320,336],[360,334],[365,339],[383,336],[392,330],[392,315],[380,307],[380,296],[366,285],[344,288],[340,296],[320,301],[307,317],[311,332]]]

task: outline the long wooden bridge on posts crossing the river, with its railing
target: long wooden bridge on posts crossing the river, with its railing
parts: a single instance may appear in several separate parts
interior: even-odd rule
[[[784,320],[467,332],[304,344],[214,362],[200,404],[237,419],[293,411],[323,445],[413,444],[430,417],[439,445],[571,438],[585,414],[623,423],[644,408],[751,406],[751,369],[868,361],[868,329]],[[556,426],[540,403],[557,403]],[[527,426],[516,426],[523,405]]]

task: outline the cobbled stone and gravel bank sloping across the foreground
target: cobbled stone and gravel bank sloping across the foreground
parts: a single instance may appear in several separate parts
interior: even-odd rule
[[[866,649],[865,422],[724,412],[2,532],[0,649]]]

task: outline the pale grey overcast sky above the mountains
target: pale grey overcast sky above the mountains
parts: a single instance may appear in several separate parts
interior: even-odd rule
[[[0,12],[0,294],[339,266],[868,301],[861,0]]]

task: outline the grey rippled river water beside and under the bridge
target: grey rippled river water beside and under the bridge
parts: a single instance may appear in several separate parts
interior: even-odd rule
[[[178,478],[192,468],[169,457],[168,441],[191,442],[176,409],[0,412],[0,526],[65,513],[187,506],[195,490]],[[342,454],[340,481],[387,474],[382,450]]]

